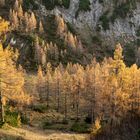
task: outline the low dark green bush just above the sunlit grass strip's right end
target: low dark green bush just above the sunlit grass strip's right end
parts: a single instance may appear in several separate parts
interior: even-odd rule
[[[89,125],[86,123],[75,122],[71,127],[71,131],[78,133],[87,133],[89,132]]]

